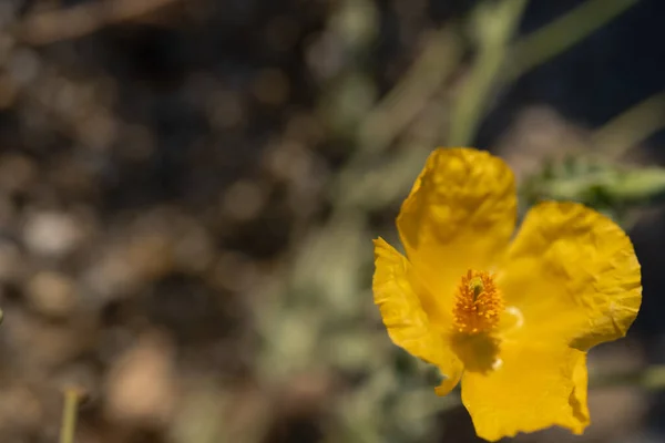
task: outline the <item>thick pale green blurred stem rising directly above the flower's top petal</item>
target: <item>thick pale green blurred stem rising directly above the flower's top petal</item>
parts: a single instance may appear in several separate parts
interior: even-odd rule
[[[520,23],[525,6],[526,0],[503,0],[498,4],[481,3],[475,11],[478,55],[454,103],[448,140],[450,146],[472,142],[483,106],[508,53],[508,43]]]

